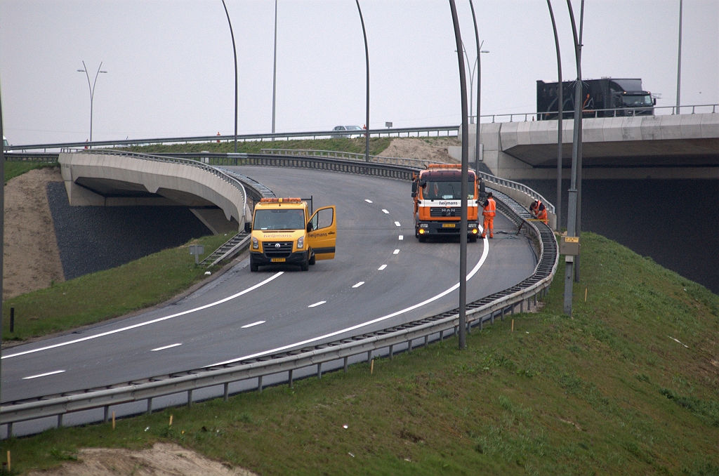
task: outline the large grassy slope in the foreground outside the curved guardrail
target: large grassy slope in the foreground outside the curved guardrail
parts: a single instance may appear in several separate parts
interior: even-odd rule
[[[608,239],[582,240],[574,319],[560,266],[541,312],[513,316],[513,332],[509,319],[473,331],[465,351],[449,339],[377,360],[373,375],[354,365],[115,431],[52,429],[3,441],[1,454],[23,470],[81,447],[176,441],[262,475],[718,474],[719,296]]]

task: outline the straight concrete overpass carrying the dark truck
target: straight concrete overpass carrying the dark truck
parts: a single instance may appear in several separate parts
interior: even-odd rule
[[[569,178],[573,120],[564,119],[562,129],[563,176]],[[556,120],[481,124],[480,130],[482,159],[495,175],[557,177]],[[470,132],[470,144],[475,137]],[[584,119],[582,144],[585,179],[719,178],[719,114]],[[459,147],[450,149],[461,157]]]

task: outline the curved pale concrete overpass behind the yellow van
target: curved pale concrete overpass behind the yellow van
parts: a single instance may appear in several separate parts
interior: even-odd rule
[[[104,150],[58,161],[71,206],[186,206],[214,234],[237,232],[249,210],[242,183],[194,160]]]

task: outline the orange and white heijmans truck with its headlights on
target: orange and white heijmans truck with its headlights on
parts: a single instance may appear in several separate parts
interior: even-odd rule
[[[479,189],[477,175],[470,170],[467,182],[467,239],[476,242],[479,230]],[[459,237],[462,219],[462,165],[432,164],[412,183],[414,198],[414,236],[420,242],[428,237]]]

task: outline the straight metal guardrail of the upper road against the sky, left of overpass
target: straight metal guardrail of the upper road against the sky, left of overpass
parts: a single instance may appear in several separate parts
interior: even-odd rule
[[[370,137],[435,137],[456,136],[459,126],[436,126],[436,127],[395,127],[391,129],[370,129],[356,135],[364,137],[369,133]],[[238,142],[285,140],[285,139],[317,139],[327,137],[344,137],[349,131],[311,131],[311,132],[278,132],[275,134],[238,134]],[[79,147],[131,147],[135,145],[152,144],[187,144],[189,142],[234,142],[234,134],[216,136],[192,136],[192,137],[159,137],[156,139],[122,139],[122,140],[99,140],[93,142],[59,142],[55,144],[28,144],[10,145],[5,147],[9,150],[47,150],[67,149]]]

